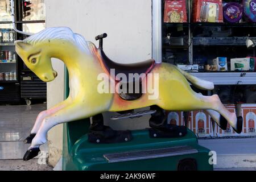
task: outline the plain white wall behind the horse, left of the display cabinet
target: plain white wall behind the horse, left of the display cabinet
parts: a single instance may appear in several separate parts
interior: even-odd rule
[[[110,59],[121,63],[143,61],[152,55],[151,6],[151,0],[46,0],[46,27],[70,27],[97,46],[94,37],[106,32],[104,51]],[[47,107],[63,100],[64,65],[53,60],[53,68],[58,78],[47,84]],[[116,129],[137,129],[147,127],[146,120],[129,119],[129,122],[109,124]],[[55,126],[48,133],[49,163],[52,165],[61,155],[61,134],[61,126]]]

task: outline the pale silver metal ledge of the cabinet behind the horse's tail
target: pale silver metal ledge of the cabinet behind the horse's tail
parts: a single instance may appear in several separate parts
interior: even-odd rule
[[[212,81],[214,85],[256,85],[256,72],[197,72],[191,75]]]

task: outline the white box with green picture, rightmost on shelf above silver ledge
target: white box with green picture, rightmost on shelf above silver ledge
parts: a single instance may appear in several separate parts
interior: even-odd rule
[[[231,71],[253,71],[254,70],[254,59],[252,57],[234,58],[230,59],[230,70]]]

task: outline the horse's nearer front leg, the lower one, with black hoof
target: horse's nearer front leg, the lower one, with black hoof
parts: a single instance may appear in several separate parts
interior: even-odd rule
[[[88,118],[92,115],[102,113],[103,111],[105,110],[93,109],[84,103],[73,101],[72,104],[63,107],[62,109],[44,118],[38,132],[35,135],[35,138],[32,139],[31,146],[28,148],[23,160],[30,160],[38,155],[40,145],[47,142],[47,132],[53,126],[60,123]]]

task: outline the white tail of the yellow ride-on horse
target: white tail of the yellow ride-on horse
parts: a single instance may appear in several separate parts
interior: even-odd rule
[[[182,75],[185,76],[185,78],[187,78],[187,80],[194,86],[196,86],[196,88],[199,88],[201,90],[213,90],[214,89],[214,84],[211,81],[206,81],[206,80],[202,80],[200,78],[197,78],[185,71],[183,71],[182,69],[176,67],[180,73],[182,73]]]

